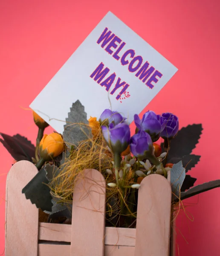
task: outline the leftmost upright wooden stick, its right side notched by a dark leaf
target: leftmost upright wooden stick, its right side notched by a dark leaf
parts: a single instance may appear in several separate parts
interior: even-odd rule
[[[38,173],[29,161],[15,163],[7,177],[6,256],[38,255],[38,209],[22,189]]]

